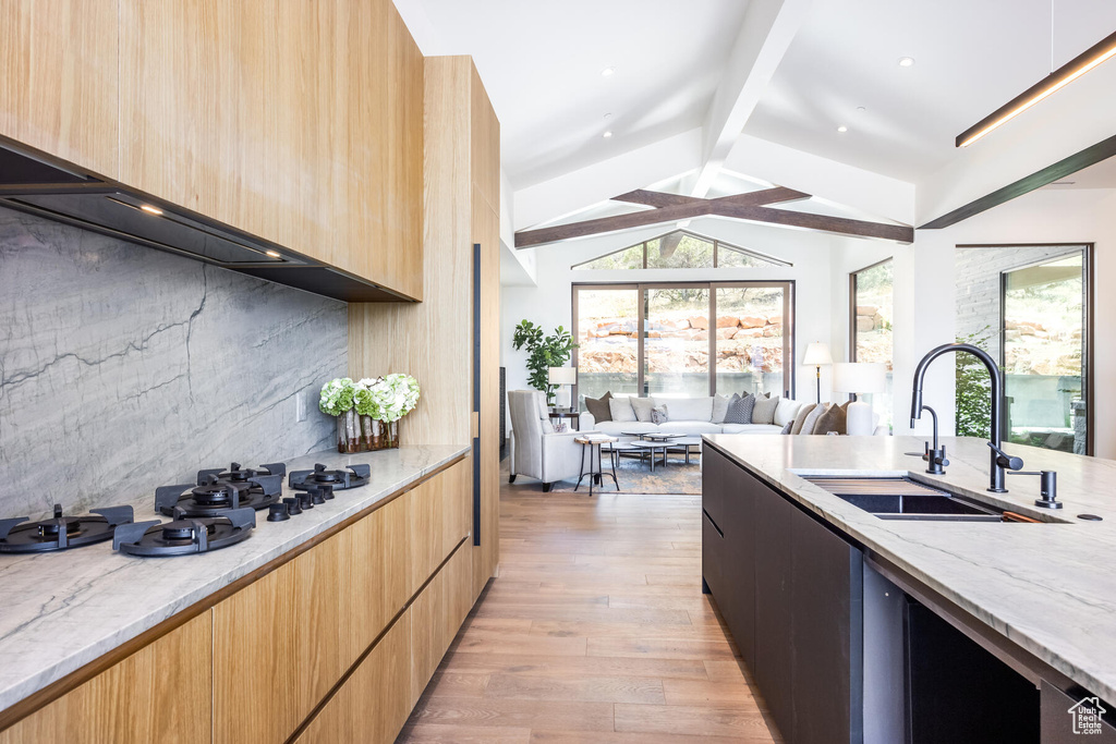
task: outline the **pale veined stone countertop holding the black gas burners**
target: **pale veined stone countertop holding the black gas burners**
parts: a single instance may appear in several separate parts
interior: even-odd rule
[[[465,454],[468,447],[404,446],[355,455],[318,452],[287,462],[287,471],[315,463],[330,468],[367,463],[367,485],[337,491],[325,504],[287,522],[257,512],[256,529],[222,550],[175,558],[136,558],[112,542],[54,553],[0,555],[0,711],[65,677],[240,577],[344,522],[423,475]],[[246,463],[254,466],[257,463]],[[283,479],[283,495],[294,495]],[[154,494],[129,503],[135,521],[156,516]]]

